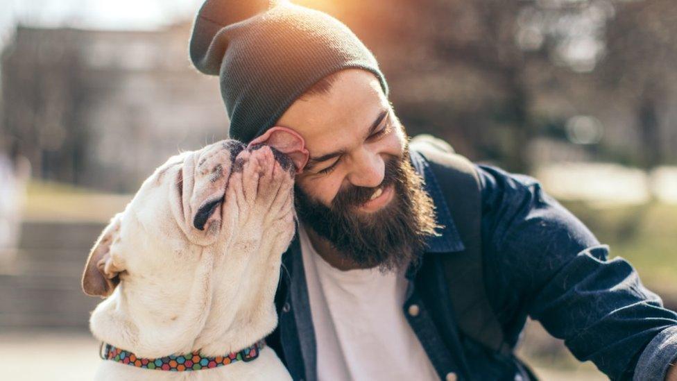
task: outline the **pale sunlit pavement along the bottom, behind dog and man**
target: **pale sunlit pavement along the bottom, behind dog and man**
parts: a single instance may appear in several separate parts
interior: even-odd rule
[[[98,348],[99,343],[94,338],[80,331],[2,332],[0,367],[3,380],[92,380],[101,361]],[[570,370],[535,366],[535,372],[546,381],[607,380],[592,366]]]

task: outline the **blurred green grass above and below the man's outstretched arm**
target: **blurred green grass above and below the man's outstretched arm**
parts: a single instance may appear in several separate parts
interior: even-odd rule
[[[611,248],[611,257],[624,257],[640,273],[644,285],[665,305],[677,307],[677,205],[596,208],[588,203],[563,203]],[[518,355],[543,380],[605,380],[590,362],[581,363],[563,341],[551,337],[537,321],[526,328]]]

